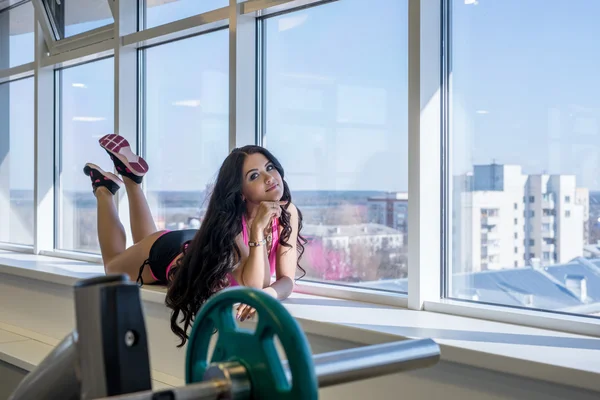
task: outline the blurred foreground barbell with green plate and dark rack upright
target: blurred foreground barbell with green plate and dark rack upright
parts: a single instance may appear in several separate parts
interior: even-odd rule
[[[237,303],[257,310],[254,332],[237,325]],[[213,296],[198,313],[187,348],[186,386],[153,392],[139,287],[125,275],[79,281],[75,311],[76,330],[9,400],[313,400],[319,388],[426,368],[440,357],[431,339],[312,356],[300,326],[279,301],[236,287]],[[288,361],[279,358],[275,337]]]

